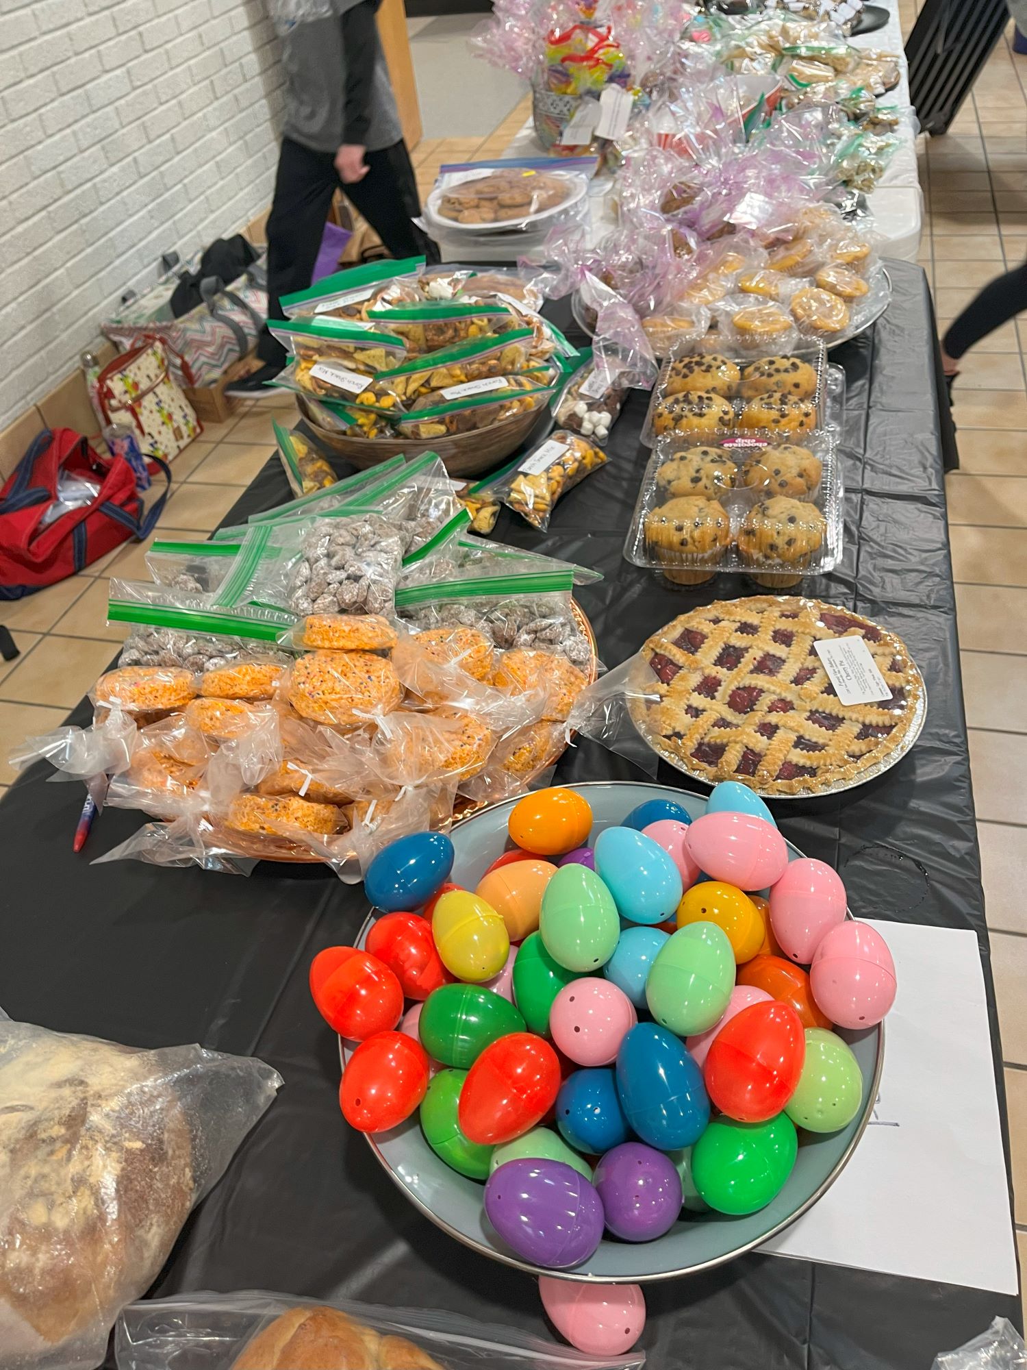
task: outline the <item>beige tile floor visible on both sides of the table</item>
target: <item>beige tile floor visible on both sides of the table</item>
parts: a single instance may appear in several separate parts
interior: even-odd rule
[[[904,26],[915,0],[900,0]],[[920,155],[926,197],[920,263],[943,329],[976,289],[1027,256],[1027,58],[1004,40],[949,134]],[[498,155],[529,114],[523,101],[485,140],[422,141],[422,196],[445,160]],[[985,340],[956,385],[961,467],[948,478],[964,699],[991,959],[1009,1099],[1017,1244],[1027,1262],[1027,318]],[[283,397],[283,404],[290,401]],[[175,462],[160,536],[204,540],[266,462],[268,406],[210,426]],[[0,662],[0,785],[7,754],[59,725],[123,632],[105,625],[112,575],[147,575],[129,545],[81,575],[0,610],[22,655]]]

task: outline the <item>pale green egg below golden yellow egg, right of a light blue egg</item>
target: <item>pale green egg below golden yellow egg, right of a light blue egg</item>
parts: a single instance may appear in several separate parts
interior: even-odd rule
[[[645,984],[649,1012],[679,1037],[705,1032],[734,989],[734,952],[716,923],[689,923],[660,949]]]

